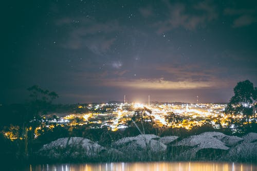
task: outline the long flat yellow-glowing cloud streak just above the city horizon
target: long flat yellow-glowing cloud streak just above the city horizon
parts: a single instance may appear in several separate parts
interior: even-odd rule
[[[202,88],[221,88],[226,86],[225,82],[214,81],[168,81],[159,79],[137,79],[137,80],[105,80],[105,86],[128,87],[135,89],[153,90],[180,90],[180,89],[202,89]]]

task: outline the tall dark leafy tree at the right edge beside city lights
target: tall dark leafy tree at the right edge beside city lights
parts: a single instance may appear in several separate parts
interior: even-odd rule
[[[234,96],[225,108],[225,113],[240,114],[247,118],[253,115],[256,107],[257,88],[249,81],[238,82],[234,87]]]

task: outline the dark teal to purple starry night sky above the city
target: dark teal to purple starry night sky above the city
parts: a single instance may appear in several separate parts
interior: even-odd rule
[[[0,103],[228,102],[257,86],[256,1],[6,1]]]

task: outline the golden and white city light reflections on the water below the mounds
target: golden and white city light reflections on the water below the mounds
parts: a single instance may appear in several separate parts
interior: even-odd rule
[[[150,163],[98,163],[98,164],[42,164],[30,165],[26,170],[35,171],[254,171],[256,165],[211,162],[150,162]]]

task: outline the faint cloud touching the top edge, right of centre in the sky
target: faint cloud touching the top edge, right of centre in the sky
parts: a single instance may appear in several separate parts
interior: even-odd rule
[[[209,2],[200,2],[188,9],[184,4],[171,4],[164,1],[169,9],[167,20],[157,22],[157,33],[164,33],[174,28],[185,28],[194,30],[198,26],[204,26],[217,18],[214,5]],[[198,13],[198,14],[196,14]]]

